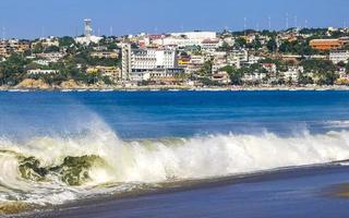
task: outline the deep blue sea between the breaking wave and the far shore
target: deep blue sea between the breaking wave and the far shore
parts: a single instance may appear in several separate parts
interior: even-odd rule
[[[73,134],[95,117],[122,138],[327,132],[344,128],[328,122],[348,120],[348,92],[0,93],[0,133]]]

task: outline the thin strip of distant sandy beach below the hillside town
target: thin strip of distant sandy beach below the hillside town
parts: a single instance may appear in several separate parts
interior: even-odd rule
[[[349,86],[224,86],[224,87],[193,87],[193,86],[103,86],[103,87],[0,87],[0,92],[264,92],[264,90],[349,90]]]

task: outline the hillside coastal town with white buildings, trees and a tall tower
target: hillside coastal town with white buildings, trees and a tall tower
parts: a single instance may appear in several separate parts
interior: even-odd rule
[[[348,88],[349,28],[0,40],[0,89]]]

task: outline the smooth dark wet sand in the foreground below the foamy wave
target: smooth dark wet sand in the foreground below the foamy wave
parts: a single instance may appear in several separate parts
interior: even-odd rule
[[[195,181],[186,186],[84,199],[20,217],[342,217],[349,201],[327,195],[327,191],[347,181],[347,172],[348,167],[330,166]]]

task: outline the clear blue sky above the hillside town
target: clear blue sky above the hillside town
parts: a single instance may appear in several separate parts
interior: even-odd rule
[[[348,0],[1,0],[0,26],[4,36],[82,34],[84,17],[95,34],[141,32],[285,28],[289,26],[349,26]],[[2,31],[1,31],[2,32]],[[2,37],[2,36],[1,36]]]

